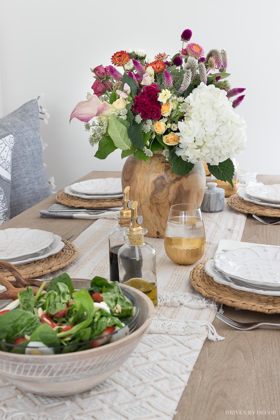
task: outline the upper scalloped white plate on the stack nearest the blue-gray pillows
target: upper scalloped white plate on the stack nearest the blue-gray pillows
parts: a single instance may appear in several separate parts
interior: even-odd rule
[[[76,182],[71,185],[76,194],[86,195],[120,195],[123,194],[121,178],[97,178]]]

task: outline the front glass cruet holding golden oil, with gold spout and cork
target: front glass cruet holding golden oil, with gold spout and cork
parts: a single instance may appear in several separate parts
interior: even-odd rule
[[[138,202],[131,205],[132,224],[125,229],[128,241],[118,251],[120,283],[128,284],[145,293],[157,305],[156,252],[144,242],[147,229],[140,226],[142,216],[137,215]]]

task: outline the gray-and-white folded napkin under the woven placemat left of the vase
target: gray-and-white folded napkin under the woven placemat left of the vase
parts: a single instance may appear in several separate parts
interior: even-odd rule
[[[120,213],[120,209],[123,207],[108,207],[108,210],[112,209],[115,211],[106,211],[105,213],[100,214],[88,214],[83,212],[77,213],[52,213],[52,210],[75,210],[76,207],[68,207],[63,204],[53,204],[48,210],[40,210],[41,217],[64,217],[64,218],[76,218],[76,219],[99,219],[99,218],[114,218],[115,215]],[[86,209],[88,210],[88,209]],[[91,210],[100,210],[100,209],[91,209]]]

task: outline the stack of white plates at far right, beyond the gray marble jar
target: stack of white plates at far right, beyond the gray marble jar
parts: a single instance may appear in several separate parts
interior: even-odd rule
[[[280,209],[280,184],[248,187],[238,194],[250,203]]]

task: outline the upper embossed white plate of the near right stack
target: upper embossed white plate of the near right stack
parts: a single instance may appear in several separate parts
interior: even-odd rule
[[[246,284],[280,290],[280,247],[252,245],[215,255],[216,268]]]

